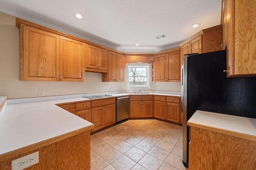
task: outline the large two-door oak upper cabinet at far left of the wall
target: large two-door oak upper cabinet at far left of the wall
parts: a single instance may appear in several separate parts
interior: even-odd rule
[[[20,80],[84,81],[85,43],[16,19],[20,29]]]

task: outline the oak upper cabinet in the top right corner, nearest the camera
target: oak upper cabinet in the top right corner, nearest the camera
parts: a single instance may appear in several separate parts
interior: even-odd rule
[[[223,49],[227,50],[227,77],[256,76],[256,3],[223,0]]]

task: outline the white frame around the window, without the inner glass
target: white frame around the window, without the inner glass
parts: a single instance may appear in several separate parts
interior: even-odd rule
[[[130,86],[129,85],[129,68],[130,67],[146,67],[146,72],[147,72],[147,85],[145,86]],[[130,90],[138,90],[138,89],[150,89],[151,88],[151,64],[147,64],[147,63],[127,63],[126,66],[125,66],[125,70],[126,70],[126,83],[125,83],[125,86],[126,86],[126,89],[130,89]]]

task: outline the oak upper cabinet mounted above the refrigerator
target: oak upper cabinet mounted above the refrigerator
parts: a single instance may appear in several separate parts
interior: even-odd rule
[[[183,55],[190,53],[208,53],[222,49],[222,25],[203,29],[180,44],[181,65]]]

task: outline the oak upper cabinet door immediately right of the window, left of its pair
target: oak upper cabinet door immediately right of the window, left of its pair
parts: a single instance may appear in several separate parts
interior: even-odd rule
[[[166,54],[154,56],[154,81],[166,82]]]

